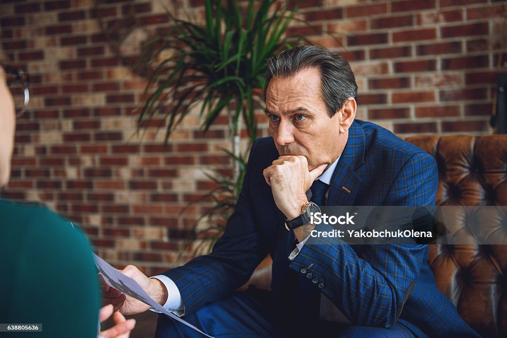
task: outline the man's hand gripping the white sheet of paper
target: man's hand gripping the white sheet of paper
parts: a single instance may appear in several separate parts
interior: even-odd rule
[[[167,288],[165,285],[156,278],[148,278],[133,265],[128,265],[123,270],[119,270],[125,276],[135,280],[139,286],[152,297],[155,302],[164,305],[167,301]],[[100,284],[102,289],[102,298],[104,304],[112,304],[114,311],[120,309],[124,315],[134,315],[150,309],[147,304],[138,301],[137,299],[121,293],[119,290],[110,287],[100,276]]]

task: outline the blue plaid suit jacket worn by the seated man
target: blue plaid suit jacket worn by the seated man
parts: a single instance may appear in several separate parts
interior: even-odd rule
[[[477,336],[437,289],[427,245],[305,245],[289,261],[294,235],[285,230],[285,216],[263,177],[278,156],[271,137],[253,144],[235,212],[212,253],[165,273],[178,287],[186,313],[234,292],[269,253],[272,294],[281,307],[294,298],[289,285],[306,268],[324,283],[320,292],[355,325],[390,327],[400,321],[418,336]],[[356,120],[327,205],[434,205],[437,183],[437,164],[429,154]]]

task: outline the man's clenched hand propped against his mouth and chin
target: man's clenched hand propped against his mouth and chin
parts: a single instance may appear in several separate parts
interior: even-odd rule
[[[328,164],[321,164],[308,171],[306,157],[282,155],[264,169],[264,178],[271,186],[276,206],[287,219],[301,215],[301,208],[308,201],[306,191],[327,166]]]

